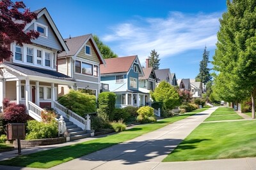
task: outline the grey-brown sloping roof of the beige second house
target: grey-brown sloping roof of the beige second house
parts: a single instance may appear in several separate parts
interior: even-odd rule
[[[88,38],[90,38],[90,34],[64,39],[69,48],[69,53],[67,54],[65,52],[61,52],[58,54],[58,57],[75,55],[77,51],[83,46],[84,42],[88,40]]]

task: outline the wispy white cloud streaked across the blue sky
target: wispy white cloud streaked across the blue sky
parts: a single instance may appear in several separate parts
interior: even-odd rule
[[[188,15],[171,12],[166,18],[136,17],[111,27],[102,40],[120,56],[138,55],[141,62],[156,49],[160,58],[188,50],[215,48],[221,13]],[[142,62],[143,63],[143,62]]]

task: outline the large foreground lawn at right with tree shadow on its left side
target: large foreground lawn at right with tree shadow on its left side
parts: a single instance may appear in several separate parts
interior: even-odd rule
[[[199,125],[163,162],[256,157],[253,120]]]

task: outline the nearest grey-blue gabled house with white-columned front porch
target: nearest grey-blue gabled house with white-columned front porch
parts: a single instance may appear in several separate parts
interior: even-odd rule
[[[11,103],[26,104],[28,110],[38,106],[53,108],[58,85],[73,87],[76,83],[57,71],[57,53],[69,50],[47,9],[35,13],[37,19],[27,24],[24,31],[36,30],[40,36],[31,39],[32,44],[11,43],[13,56],[0,64],[0,101],[8,98]]]

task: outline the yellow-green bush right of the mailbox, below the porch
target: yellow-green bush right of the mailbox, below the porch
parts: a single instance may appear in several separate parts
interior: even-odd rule
[[[45,139],[58,137],[58,122],[53,120],[50,123],[29,120],[27,125],[28,134],[26,139]]]

